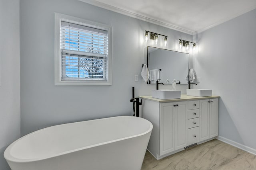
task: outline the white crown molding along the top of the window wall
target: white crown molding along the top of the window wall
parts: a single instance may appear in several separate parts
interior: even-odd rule
[[[119,14],[130,16],[130,17],[136,18],[138,20],[142,20],[142,21],[154,23],[156,25],[160,25],[160,26],[163,26],[163,27],[166,27],[166,28],[174,29],[176,31],[180,31],[180,32],[187,33],[187,34],[190,34],[190,35],[194,34],[194,31],[192,31],[192,30],[184,29],[184,28],[178,27],[176,25],[171,25],[171,24],[165,23],[163,21],[158,21],[158,20],[154,20],[154,19],[151,19],[151,18],[147,18],[147,17],[142,16],[140,14],[135,14],[133,12],[129,12],[127,10],[116,8],[114,6],[110,6],[110,5],[104,4],[102,2],[98,2],[98,1],[95,1],[95,0],[79,0],[79,1],[85,2],[87,4],[91,4],[91,5],[94,5],[94,6],[98,6],[100,8],[104,8],[106,10],[114,11],[114,12],[117,12]]]

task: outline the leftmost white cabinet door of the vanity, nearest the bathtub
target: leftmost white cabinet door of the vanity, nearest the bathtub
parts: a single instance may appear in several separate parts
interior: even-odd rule
[[[167,154],[175,150],[175,103],[160,104],[160,155]]]

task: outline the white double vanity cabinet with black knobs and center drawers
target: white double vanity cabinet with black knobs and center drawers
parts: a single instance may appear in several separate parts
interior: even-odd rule
[[[218,98],[182,94],[180,99],[142,98],[141,117],[153,124],[148,151],[161,159],[218,135]]]

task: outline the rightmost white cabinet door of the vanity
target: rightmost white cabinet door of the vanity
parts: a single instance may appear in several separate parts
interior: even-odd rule
[[[210,138],[218,136],[219,128],[219,99],[210,99]]]

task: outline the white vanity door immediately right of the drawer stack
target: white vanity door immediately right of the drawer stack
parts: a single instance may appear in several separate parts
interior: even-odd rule
[[[200,137],[199,141],[209,139],[209,99],[200,100]]]

